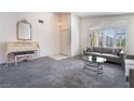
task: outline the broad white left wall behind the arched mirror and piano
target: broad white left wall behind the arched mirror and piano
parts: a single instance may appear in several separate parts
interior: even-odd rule
[[[54,13],[0,13],[0,63],[5,62],[5,42],[16,41],[16,23],[27,20],[32,25],[32,39],[40,43],[40,56],[59,53],[59,29]],[[38,23],[43,20],[43,24]]]

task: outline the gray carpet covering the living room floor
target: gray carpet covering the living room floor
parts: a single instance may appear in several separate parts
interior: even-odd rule
[[[119,65],[105,63],[104,73],[83,70],[79,58],[56,61],[45,56],[35,61],[21,62],[17,66],[0,65],[2,88],[124,88],[124,70]]]

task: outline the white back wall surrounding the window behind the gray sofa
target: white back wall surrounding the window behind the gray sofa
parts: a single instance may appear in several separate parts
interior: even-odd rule
[[[89,34],[88,29],[90,27],[102,25],[103,23],[106,22],[112,22],[113,25],[115,24],[118,25],[118,23],[116,22],[122,22],[122,25],[126,26],[126,52],[134,53],[134,15],[81,18],[80,22],[81,52],[88,46],[88,34]]]

